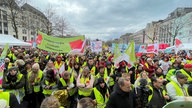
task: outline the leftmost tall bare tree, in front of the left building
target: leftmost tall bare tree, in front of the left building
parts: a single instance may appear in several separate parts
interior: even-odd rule
[[[11,23],[15,37],[18,38],[18,27],[21,25],[21,8],[19,7],[24,0],[0,0],[0,5],[4,6],[8,11],[4,14],[7,16],[8,22]]]

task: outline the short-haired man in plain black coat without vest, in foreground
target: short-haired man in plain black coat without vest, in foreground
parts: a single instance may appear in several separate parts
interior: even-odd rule
[[[113,91],[106,108],[135,108],[134,93],[131,91],[130,77],[120,77],[117,90]]]

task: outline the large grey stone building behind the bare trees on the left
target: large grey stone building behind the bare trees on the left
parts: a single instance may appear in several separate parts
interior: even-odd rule
[[[0,0],[2,1],[2,0]],[[18,6],[19,7],[19,6]],[[46,16],[38,9],[25,3],[19,7],[17,12],[17,30],[18,37],[16,37],[15,29],[12,27],[12,22],[9,20],[10,10],[6,4],[0,3],[0,34],[9,34],[23,41],[34,40],[37,36],[38,31],[47,31],[47,24],[49,20]],[[49,25],[51,26],[51,25]]]

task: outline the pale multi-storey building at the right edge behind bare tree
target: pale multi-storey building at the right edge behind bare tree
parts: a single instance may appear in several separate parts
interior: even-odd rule
[[[190,42],[192,33],[192,8],[177,8],[159,25],[159,43],[174,45],[174,39]]]

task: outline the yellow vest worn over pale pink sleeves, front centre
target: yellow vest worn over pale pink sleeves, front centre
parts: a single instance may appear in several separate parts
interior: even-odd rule
[[[80,78],[80,83],[81,84],[90,83],[90,78],[89,77],[87,77],[87,78],[81,77]],[[91,92],[92,92],[92,88],[82,88],[82,87],[79,87],[79,89],[78,89],[78,94],[79,95],[83,95],[83,96],[90,96]]]

